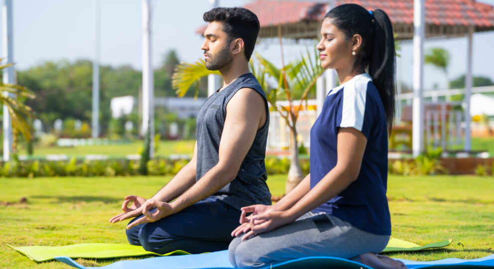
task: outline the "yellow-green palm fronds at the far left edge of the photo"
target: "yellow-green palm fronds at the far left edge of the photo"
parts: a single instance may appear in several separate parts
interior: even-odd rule
[[[0,62],[3,59],[0,59]],[[12,63],[0,65],[0,71],[12,66]],[[34,113],[32,109],[23,104],[26,98],[33,99],[34,95],[25,87],[15,84],[4,84],[0,81],[0,104],[7,107],[12,123],[12,133],[14,137],[13,149],[16,149],[17,134],[22,134],[27,141],[32,139],[32,128],[28,118],[32,118]],[[11,95],[13,94],[13,95]]]

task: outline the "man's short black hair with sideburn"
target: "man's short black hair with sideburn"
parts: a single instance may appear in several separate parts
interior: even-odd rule
[[[250,60],[260,28],[259,20],[252,11],[243,7],[215,7],[204,13],[203,18],[207,22],[222,22],[223,31],[230,40],[242,38],[247,61]]]

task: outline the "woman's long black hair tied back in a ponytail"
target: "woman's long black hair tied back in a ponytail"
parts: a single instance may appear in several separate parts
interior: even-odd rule
[[[342,4],[324,18],[342,30],[348,38],[362,36],[362,49],[355,56],[354,68],[368,68],[379,92],[389,131],[393,126],[396,92],[396,52],[391,21],[380,9],[368,11],[358,4]],[[390,133],[390,132],[389,132]]]

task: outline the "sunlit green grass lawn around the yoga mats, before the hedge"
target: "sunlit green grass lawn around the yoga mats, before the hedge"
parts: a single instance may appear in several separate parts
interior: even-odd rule
[[[59,262],[36,264],[5,244],[127,244],[126,222],[109,224],[108,220],[120,213],[125,195],[150,197],[170,178],[0,178],[0,268],[70,268]],[[269,177],[273,195],[283,193],[285,179],[285,175]],[[27,204],[18,203],[21,197],[27,198]],[[494,177],[390,176],[388,199],[393,237],[420,245],[453,239],[443,249],[390,257],[430,261],[494,253]],[[104,266],[119,260],[77,261]]]

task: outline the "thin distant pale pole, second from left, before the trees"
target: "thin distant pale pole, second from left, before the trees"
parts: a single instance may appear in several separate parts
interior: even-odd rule
[[[95,27],[95,56],[93,59],[93,111],[91,116],[91,137],[98,138],[100,134],[100,0],[95,0],[96,27]]]

